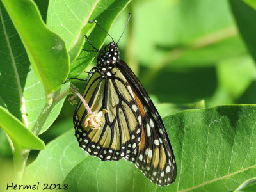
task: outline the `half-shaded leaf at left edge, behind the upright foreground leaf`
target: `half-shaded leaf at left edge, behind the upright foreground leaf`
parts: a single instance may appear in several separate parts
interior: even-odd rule
[[[24,45],[1,2],[0,18],[0,106],[8,109],[31,129],[46,104],[44,86],[31,68]],[[61,92],[67,86],[68,84],[62,86]],[[54,122],[63,102],[61,100],[54,106],[42,131]]]

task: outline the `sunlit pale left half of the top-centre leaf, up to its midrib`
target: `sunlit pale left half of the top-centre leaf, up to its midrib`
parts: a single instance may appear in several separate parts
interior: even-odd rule
[[[65,40],[71,64],[81,52],[85,42],[84,35],[89,36],[95,27],[95,24],[90,24],[88,21],[98,3],[99,0],[76,1],[76,3],[56,0],[49,2],[47,26]]]

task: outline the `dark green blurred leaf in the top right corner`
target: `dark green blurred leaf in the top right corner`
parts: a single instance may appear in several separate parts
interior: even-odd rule
[[[230,0],[230,4],[241,36],[256,61],[256,10],[241,0]]]

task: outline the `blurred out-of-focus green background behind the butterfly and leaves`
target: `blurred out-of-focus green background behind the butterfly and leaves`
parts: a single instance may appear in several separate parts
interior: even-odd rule
[[[47,3],[35,2],[41,12],[47,9]],[[163,103],[182,106],[201,100],[205,100],[206,107],[255,104],[256,13],[252,2],[131,1],[109,34],[118,40],[128,13],[132,13],[118,44],[120,58],[138,75],[157,108]],[[42,16],[45,19],[46,15]],[[110,40],[108,37],[106,44]],[[93,65],[95,62],[86,70]],[[86,74],[80,77],[84,79]],[[86,83],[72,83],[83,92]],[[45,144],[73,129],[75,107],[66,99],[57,120],[40,135]],[[28,162],[37,154],[32,150]],[[8,141],[0,129],[0,172],[12,173],[12,161]]]

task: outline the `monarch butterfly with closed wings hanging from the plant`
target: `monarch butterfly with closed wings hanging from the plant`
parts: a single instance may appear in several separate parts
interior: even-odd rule
[[[87,36],[86,39],[92,45]],[[102,116],[99,129],[86,127],[88,111],[80,101],[73,117],[75,135],[88,154],[102,161],[124,158],[152,182],[166,186],[175,181],[177,172],[172,146],[163,121],[138,77],[120,60],[118,42],[115,44],[113,40],[104,51],[92,45],[94,50],[90,51],[100,54],[97,66],[89,72],[83,98],[92,111],[106,109],[108,113]]]

